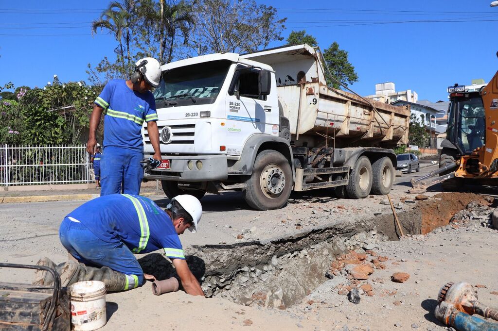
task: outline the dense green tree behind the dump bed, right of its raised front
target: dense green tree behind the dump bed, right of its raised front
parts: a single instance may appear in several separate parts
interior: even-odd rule
[[[348,52],[339,48],[337,42],[333,42],[329,48],[323,51],[323,57],[327,63],[332,77],[342,84],[348,86],[358,82],[358,75],[355,72],[355,67],[348,60]],[[334,88],[340,88],[340,84],[334,81],[327,70],[325,70],[327,84]]]

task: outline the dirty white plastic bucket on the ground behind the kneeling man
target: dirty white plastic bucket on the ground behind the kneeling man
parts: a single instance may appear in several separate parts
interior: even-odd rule
[[[107,323],[106,285],[100,281],[71,285],[71,324],[76,331],[92,331]]]

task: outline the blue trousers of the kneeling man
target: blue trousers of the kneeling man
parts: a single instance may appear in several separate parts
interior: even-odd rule
[[[66,217],[59,227],[59,239],[74,258],[87,266],[107,266],[133,276],[136,286],[144,282],[143,271],[131,250],[121,241],[108,243],[97,237],[83,223]],[[133,284],[134,285],[134,284]]]

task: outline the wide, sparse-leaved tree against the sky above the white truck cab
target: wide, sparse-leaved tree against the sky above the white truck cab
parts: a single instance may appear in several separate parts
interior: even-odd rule
[[[193,8],[191,47],[197,55],[254,52],[271,41],[283,40],[286,18],[279,19],[272,6],[254,0],[198,0]]]

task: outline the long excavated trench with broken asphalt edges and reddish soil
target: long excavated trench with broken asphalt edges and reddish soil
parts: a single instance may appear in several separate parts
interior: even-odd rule
[[[440,193],[397,213],[405,234],[426,234],[449,224],[471,201],[489,205],[492,199],[472,193]],[[405,201],[411,203],[411,201]],[[382,241],[397,240],[391,213],[366,220],[334,221],[288,237],[194,246],[187,262],[208,297],[221,296],[244,305],[285,309],[302,300],[327,278],[332,262],[355,249],[374,249]],[[175,275],[160,254],[140,259],[145,273],[159,279]]]

